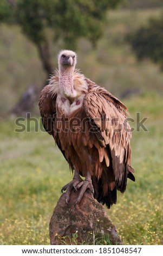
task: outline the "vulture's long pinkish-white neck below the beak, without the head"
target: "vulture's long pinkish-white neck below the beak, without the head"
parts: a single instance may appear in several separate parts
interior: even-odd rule
[[[66,66],[59,68],[59,83],[62,96],[73,100],[77,92],[74,89],[74,67]]]

